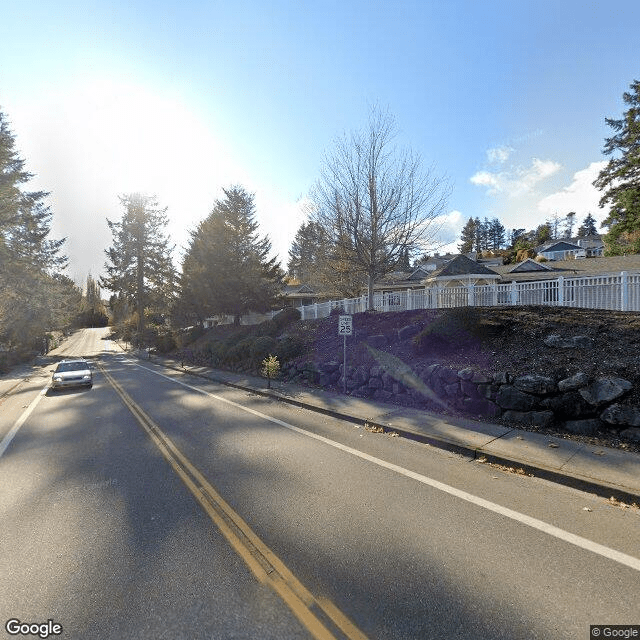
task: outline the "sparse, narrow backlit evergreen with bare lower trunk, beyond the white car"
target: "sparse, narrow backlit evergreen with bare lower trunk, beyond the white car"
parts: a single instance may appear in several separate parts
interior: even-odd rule
[[[100,279],[100,286],[136,309],[142,334],[145,310],[166,312],[175,295],[172,247],[164,235],[167,210],[158,208],[154,197],[139,193],[121,196],[120,203],[125,210],[122,219],[107,220],[113,245],[105,251],[107,275]]]

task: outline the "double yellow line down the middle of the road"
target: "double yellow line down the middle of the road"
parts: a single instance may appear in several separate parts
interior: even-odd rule
[[[274,589],[311,635],[318,640],[337,640],[341,637],[367,640],[330,600],[315,597],[287,569],[100,363],[98,368],[254,576]],[[335,627],[334,632],[329,630],[331,626]]]

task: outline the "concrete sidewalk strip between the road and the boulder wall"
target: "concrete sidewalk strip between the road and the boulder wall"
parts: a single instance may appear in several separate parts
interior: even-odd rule
[[[484,458],[487,462],[523,469],[605,498],[640,504],[640,454],[637,453],[279,381],[272,382],[272,389],[268,390],[265,379],[258,376],[206,367],[182,367],[177,360],[157,356],[152,361],[350,422],[366,422],[386,432],[395,431],[479,460]]]

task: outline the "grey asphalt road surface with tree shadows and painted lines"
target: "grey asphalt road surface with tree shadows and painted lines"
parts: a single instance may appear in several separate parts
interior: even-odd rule
[[[586,640],[640,624],[637,509],[105,336],[56,354],[92,357],[92,389],[48,391],[51,365],[0,399],[0,634],[25,637],[13,619],[74,639]]]

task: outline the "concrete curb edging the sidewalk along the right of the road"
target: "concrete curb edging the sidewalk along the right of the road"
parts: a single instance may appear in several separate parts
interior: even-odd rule
[[[145,360],[144,358],[141,358],[137,354],[134,354],[134,355],[140,360],[143,360],[143,361]],[[154,362],[154,360],[148,360],[148,359],[146,361]],[[195,370],[191,370],[187,367],[179,367],[179,366],[170,364],[168,362],[163,362],[162,360],[159,360],[157,358],[155,360],[155,363],[161,364],[162,366],[168,369],[173,369],[174,371],[181,371],[183,373],[187,373],[192,376],[203,378],[205,380],[210,380],[212,382],[217,382],[218,384],[223,384],[227,387],[239,389],[241,391],[248,391],[264,397],[272,398],[274,400],[286,402],[287,404],[291,404],[293,406],[296,406],[302,409],[314,411],[316,413],[321,413],[321,414],[330,416],[332,418],[336,418],[338,420],[344,420],[353,424],[358,424],[360,426],[364,426],[365,424],[367,424],[372,427],[382,429],[382,433],[387,433],[387,434],[397,433],[401,437],[414,440],[422,444],[427,444],[433,447],[437,447],[438,449],[444,449],[446,451],[451,451],[453,453],[457,453],[460,455],[469,456],[473,460],[481,460],[484,458],[483,461],[486,461],[487,463],[499,464],[502,466],[522,469],[524,473],[527,475],[532,475],[532,476],[535,476],[536,478],[542,478],[544,480],[548,480],[556,484],[561,484],[573,489],[578,489],[580,491],[592,493],[606,499],[614,498],[619,502],[623,502],[627,504],[632,504],[632,503],[640,504],[640,491],[636,491],[635,489],[632,489],[632,488],[625,488],[619,485],[614,485],[606,482],[605,480],[589,478],[579,474],[567,473],[558,469],[547,467],[540,463],[533,463],[528,460],[523,460],[515,457],[510,458],[508,456],[490,453],[486,451],[483,447],[466,445],[460,442],[453,442],[445,438],[440,438],[434,435],[426,435],[424,433],[418,433],[415,431],[411,431],[409,429],[390,427],[389,425],[376,422],[375,420],[363,419],[347,413],[343,413],[341,411],[327,409],[325,407],[318,407],[308,402],[296,400],[295,398],[290,398],[283,394],[280,394],[275,390],[256,389],[254,387],[250,387],[247,385],[229,382],[228,380],[224,380],[222,378],[216,377],[215,374],[205,374]]]

